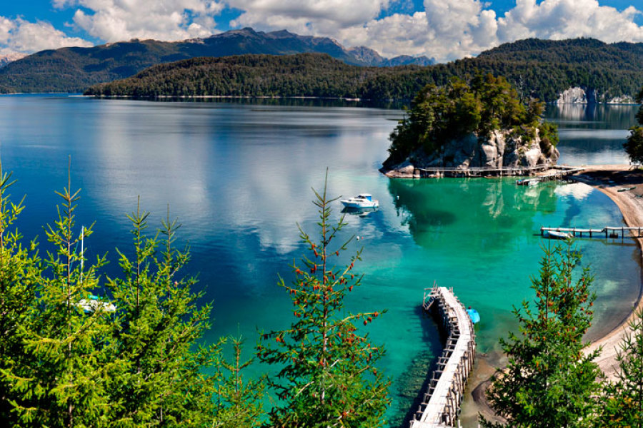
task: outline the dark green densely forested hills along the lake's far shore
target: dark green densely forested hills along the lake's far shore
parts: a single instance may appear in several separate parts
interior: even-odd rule
[[[567,88],[592,90],[597,101],[633,97],[643,84],[643,45],[594,39],[504,44],[477,58],[436,66],[350,66],[324,54],[192,58],[152,66],[86,91],[99,96],[316,96],[410,100],[427,84],[505,76],[522,98],[555,101]]]

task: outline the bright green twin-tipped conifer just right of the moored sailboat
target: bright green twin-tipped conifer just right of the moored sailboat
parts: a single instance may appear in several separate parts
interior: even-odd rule
[[[162,238],[149,238],[148,216],[140,205],[128,216],[134,255],[119,251],[124,277],[108,280],[119,308],[112,334],[121,360],[111,382],[119,403],[113,418],[121,427],[211,426],[216,374],[204,369],[218,360],[219,344],[197,346],[211,307],[196,306],[202,293],[191,291],[193,277],[181,276],[189,252],[174,248],[179,223],[168,213]]]

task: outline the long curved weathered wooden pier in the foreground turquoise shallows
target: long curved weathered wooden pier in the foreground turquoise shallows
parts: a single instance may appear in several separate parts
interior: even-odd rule
[[[411,428],[455,427],[464,397],[467,377],[474,365],[476,341],[473,323],[464,305],[447,287],[424,290],[422,307],[437,310],[447,342],[431,374],[429,390],[424,394]]]

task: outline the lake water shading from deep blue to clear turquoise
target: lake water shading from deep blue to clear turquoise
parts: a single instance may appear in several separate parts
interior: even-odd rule
[[[561,125],[567,163],[619,159],[635,107],[617,113],[550,110]],[[591,113],[591,114],[590,114]],[[629,116],[628,116],[629,115]],[[291,322],[289,298],[276,286],[289,280],[301,255],[296,223],[314,231],[311,187],[329,168],[332,195],[373,193],[381,209],[347,215],[344,235],[359,235],[364,285],[348,310],[388,309],[369,328],[389,350],[382,366],[394,380],[390,414],[409,406],[399,399],[402,379],[421,355],[437,355],[437,330],[417,306],[434,281],[453,287],[479,311],[479,350],[497,349],[514,327],[512,305],[530,299],[542,225],[620,225],[616,206],[582,184],[522,188],[511,179],[389,180],[377,168],[401,111],[326,103],[289,106],[240,103],[151,103],[80,97],[0,97],[0,155],[26,193],[21,230],[43,235],[53,220],[54,190],[66,183],[67,156],[82,188],[79,224],[96,220],[86,245],[96,253],[127,250],[125,213],[136,197],[158,222],[171,213],[183,223],[192,250],[191,272],[214,301],[214,325],[205,340],[241,333],[254,345],[256,330]],[[585,133],[580,138],[578,133]],[[604,138],[609,136],[609,138]],[[339,216],[341,206],[334,205]],[[619,240],[578,242],[592,265],[597,292],[594,334],[622,319],[640,287],[637,249]],[[106,267],[117,272],[116,263]],[[256,367],[255,372],[262,370]]]

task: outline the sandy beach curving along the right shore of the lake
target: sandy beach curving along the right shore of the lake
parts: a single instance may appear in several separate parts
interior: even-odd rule
[[[634,170],[631,165],[591,165],[582,173],[574,175],[574,180],[592,185],[605,193],[621,210],[623,219],[629,227],[643,226],[643,170]],[[622,188],[632,188],[619,192]],[[634,239],[639,245],[639,258],[643,265],[643,238]],[[639,284],[639,295],[636,304],[629,313],[622,314],[622,322],[611,331],[600,337],[595,337],[587,352],[602,347],[602,352],[596,360],[607,379],[614,379],[617,368],[616,355],[619,343],[629,331],[629,321],[634,317],[635,310],[643,308],[643,281]],[[498,352],[489,355],[479,355],[474,370],[469,378],[460,415],[463,427],[476,427],[477,414],[482,413],[488,419],[494,418],[489,408],[484,390],[489,385],[489,377],[495,372],[495,367],[503,367],[507,358]],[[500,420],[500,419],[497,419]]]

